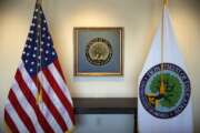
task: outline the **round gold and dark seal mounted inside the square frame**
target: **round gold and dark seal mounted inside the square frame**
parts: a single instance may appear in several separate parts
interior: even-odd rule
[[[88,62],[93,65],[104,65],[112,58],[112,47],[108,40],[94,38],[86,48],[86,57]]]

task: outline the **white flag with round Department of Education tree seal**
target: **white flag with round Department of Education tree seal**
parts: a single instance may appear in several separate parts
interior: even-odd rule
[[[138,98],[139,133],[193,132],[191,84],[167,7],[139,76]]]

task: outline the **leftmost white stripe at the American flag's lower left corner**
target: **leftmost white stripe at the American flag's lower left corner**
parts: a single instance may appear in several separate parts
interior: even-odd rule
[[[6,111],[8,112],[10,117],[12,119],[13,123],[16,124],[16,126],[20,133],[28,133],[29,132],[9,100],[7,101]]]

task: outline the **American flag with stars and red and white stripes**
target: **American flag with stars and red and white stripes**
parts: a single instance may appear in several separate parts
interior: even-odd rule
[[[8,95],[4,121],[13,133],[66,133],[74,125],[70,92],[39,3]]]

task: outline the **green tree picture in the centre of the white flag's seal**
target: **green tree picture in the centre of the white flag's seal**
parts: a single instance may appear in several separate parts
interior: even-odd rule
[[[181,98],[182,89],[179,79],[169,73],[164,73],[163,88],[161,88],[161,74],[153,78],[150,83],[151,93],[147,93],[146,96],[149,104],[152,106],[172,108]]]

